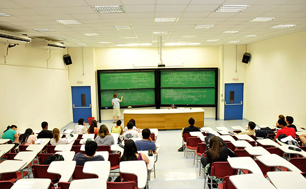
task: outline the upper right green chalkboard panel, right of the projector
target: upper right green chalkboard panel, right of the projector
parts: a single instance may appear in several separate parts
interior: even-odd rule
[[[215,87],[215,71],[161,71],[161,87]]]

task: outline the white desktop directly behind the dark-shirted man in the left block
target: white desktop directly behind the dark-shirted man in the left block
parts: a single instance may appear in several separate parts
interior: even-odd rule
[[[95,174],[98,178],[108,179],[110,172],[109,161],[86,161],[84,163],[83,172],[88,174]]]

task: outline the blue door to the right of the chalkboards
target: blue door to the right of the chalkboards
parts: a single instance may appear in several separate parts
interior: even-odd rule
[[[224,120],[242,119],[243,83],[225,84]]]

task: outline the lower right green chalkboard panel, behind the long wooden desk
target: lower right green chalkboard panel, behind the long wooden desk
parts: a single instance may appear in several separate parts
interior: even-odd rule
[[[214,88],[161,89],[161,104],[215,104]]]

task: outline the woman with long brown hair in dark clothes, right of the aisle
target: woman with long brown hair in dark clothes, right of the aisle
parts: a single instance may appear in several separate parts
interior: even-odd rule
[[[209,142],[209,150],[207,150],[207,157],[201,158],[201,163],[205,167],[205,171],[210,174],[211,172],[211,164],[213,162],[227,161],[228,156],[230,157],[237,157],[237,155],[230,150],[229,148],[225,147],[220,140],[220,137],[213,136]],[[213,176],[213,183],[222,183],[223,179]],[[208,182],[211,182],[210,178]],[[213,184],[214,185],[214,184]],[[208,184],[209,188],[211,188],[210,184]]]

